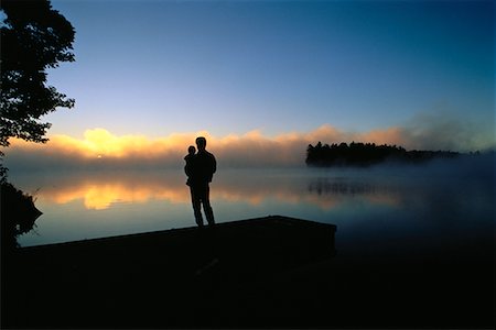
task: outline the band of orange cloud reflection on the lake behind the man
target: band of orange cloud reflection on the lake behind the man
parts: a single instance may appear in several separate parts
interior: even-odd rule
[[[45,177],[45,180],[47,178]],[[188,204],[190,193],[180,172],[163,173],[74,173],[51,176],[50,185],[37,180],[39,197],[64,205],[83,202],[88,210],[104,210],[118,204],[147,204],[162,200]],[[399,204],[391,187],[344,178],[299,177],[296,173],[227,172],[212,184],[214,200],[260,206],[268,199],[285,204],[310,202],[322,209],[343,204],[348,197],[362,197],[370,204]]]

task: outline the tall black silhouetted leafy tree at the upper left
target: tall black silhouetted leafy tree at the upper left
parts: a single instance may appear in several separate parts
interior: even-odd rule
[[[0,146],[9,138],[46,142],[51,127],[40,118],[74,107],[46,85],[46,69],[73,62],[74,28],[48,0],[2,0]]]

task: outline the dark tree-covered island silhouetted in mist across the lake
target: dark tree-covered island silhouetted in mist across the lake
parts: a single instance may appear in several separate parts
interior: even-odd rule
[[[306,148],[306,165],[311,166],[367,166],[385,161],[420,163],[432,158],[453,158],[460,153],[451,151],[407,151],[402,146],[376,145],[375,143],[352,142],[309,144]]]

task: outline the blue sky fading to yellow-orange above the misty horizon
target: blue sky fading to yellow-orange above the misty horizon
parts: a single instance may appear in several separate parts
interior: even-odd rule
[[[315,139],[496,145],[493,1],[52,6],[76,31],[76,62],[48,72],[50,85],[76,100],[43,118],[53,124],[47,146],[61,153],[123,148],[122,157],[177,141],[184,153],[200,133],[226,154],[252,143],[300,156]]]

